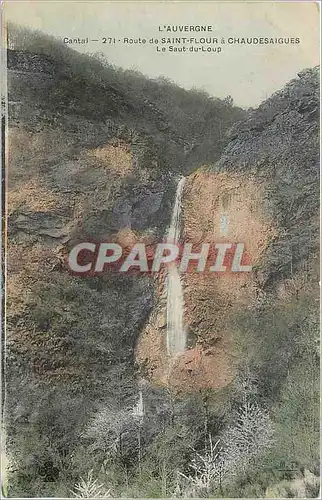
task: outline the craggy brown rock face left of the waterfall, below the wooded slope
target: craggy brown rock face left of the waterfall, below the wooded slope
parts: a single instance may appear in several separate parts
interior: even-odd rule
[[[162,234],[171,203],[171,171],[151,136],[112,122],[113,113],[105,122],[89,120],[77,101],[79,110],[70,114],[68,96],[58,99],[62,107],[67,100],[64,114],[47,107],[45,93],[48,101],[53,94],[57,100],[57,81],[61,81],[53,65],[40,56],[13,53],[11,60],[9,54],[10,95],[15,102],[24,100],[19,113],[9,117],[8,319],[12,330],[8,345],[12,369],[13,363],[17,369],[21,363],[21,349],[25,349],[21,339],[27,338],[30,362],[26,368],[31,378],[43,380],[50,373],[52,381],[70,383],[73,372],[83,387],[85,380],[91,387],[93,379],[94,385],[104,385],[106,338],[122,335],[126,346],[122,356],[131,357],[137,331],[152,305],[153,287],[145,278],[72,278],[62,268],[62,258],[78,241],[106,240],[125,228],[140,236],[146,231]],[[46,82],[44,95],[39,75]],[[19,93],[21,78],[28,83],[28,93]],[[107,106],[105,97],[101,95]],[[76,300],[64,306],[69,293]],[[86,310],[79,302],[84,293]],[[90,340],[96,352],[92,359],[79,352],[91,337],[84,330],[88,322],[95,330]],[[60,345],[56,355],[48,345]]]

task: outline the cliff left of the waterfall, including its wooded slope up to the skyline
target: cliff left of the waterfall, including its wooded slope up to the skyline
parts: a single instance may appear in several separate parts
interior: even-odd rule
[[[151,277],[73,277],[66,254],[84,240],[160,240],[186,160],[200,151],[201,162],[210,146],[219,155],[224,131],[243,114],[172,84],[118,75],[37,36],[7,54],[8,442],[18,461],[24,449],[22,463],[27,454],[36,475],[48,462],[40,448],[54,432],[39,430],[44,419],[56,426],[60,414],[70,422],[72,431],[55,432],[66,451],[99,401],[119,407],[136,401],[134,346],[155,301]],[[179,118],[174,111],[176,121],[166,113],[174,110],[172,92],[186,106]],[[222,115],[211,145],[200,124],[199,136],[183,133],[204,100]],[[27,451],[18,435],[25,441],[37,435],[35,449]],[[51,480],[56,465],[51,459],[46,467]]]

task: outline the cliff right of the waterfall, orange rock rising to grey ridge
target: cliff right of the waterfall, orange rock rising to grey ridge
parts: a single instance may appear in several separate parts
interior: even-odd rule
[[[229,384],[242,362],[232,317],[258,314],[287,278],[301,283],[305,273],[305,280],[314,281],[318,78],[317,69],[300,73],[233,126],[217,163],[188,177],[183,241],[196,248],[202,242],[242,242],[253,272],[202,274],[195,268],[184,275],[185,328],[192,340],[170,367],[162,288],[138,345],[139,362],[155,383],[183,391]]]

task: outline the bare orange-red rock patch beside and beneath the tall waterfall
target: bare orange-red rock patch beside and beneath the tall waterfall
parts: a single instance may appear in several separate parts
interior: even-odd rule
[[[252,178],[209,172],[191,175],[183,196],[183,242],[196,246],[244,243],[250,263],[259,264],[276,235],[263,210],[264,196],[264,187]],[[255,274],[192,269],[183,275],[184,323],[190,340],[176,359],[169,359],[166,352],[163,281],[160,276],[157,312],[152,313],[136,350],[145,376],[178,392],[226,386],[238,362],[230,318],[238,310],[256,305],[259,288]]]

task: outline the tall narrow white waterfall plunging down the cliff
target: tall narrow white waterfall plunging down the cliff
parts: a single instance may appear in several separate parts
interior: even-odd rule
[[[185,178],[178,182],[171,224],[168,230],[167,241],[177,243],[180,237],[181,198]],[[186,348],[186,333],[183,326],[183,290],[179,271],[175,263],[168,267],[167,275],[167,352],[169,356],[176,356]]]

